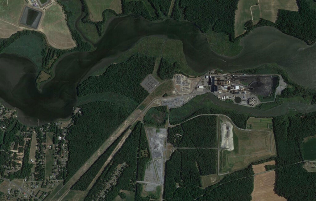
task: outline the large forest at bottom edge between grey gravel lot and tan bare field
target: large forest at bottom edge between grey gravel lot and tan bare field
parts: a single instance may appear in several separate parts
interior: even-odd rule
[[[173,152],[171,158],[166,162],[164,199],[251,200],[253,190],[253,171],[251,166],[225,175],[219,183],[203,189],[200,188],[201,180],[194,157],[203,158],[204,156],[197,155],[192,150],[177,150]],[[210,163],[210,161],[204,161],[204,163]],[[216,167],[216,160],[214,164]],[[201,163],[198,163],[198,167],[200,165]],[[211,174],[214,173],[216,173],[216,169]],[[178,188],[176,183],[179,185]]]

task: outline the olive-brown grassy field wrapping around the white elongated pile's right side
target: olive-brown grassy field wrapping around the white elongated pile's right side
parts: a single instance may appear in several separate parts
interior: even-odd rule
[[[276,155],[274,136],[269,130],[243,130],[234,126],[233,139],[233,151],[220,151],[219,173],[240,170],[251,162]]]

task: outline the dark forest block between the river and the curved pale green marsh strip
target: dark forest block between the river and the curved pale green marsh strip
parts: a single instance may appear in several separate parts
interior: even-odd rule
[[[154,57],[134,55],[125,62],[112,64],[100,76],[91,76],[78,87],[78,96],[114,92],[141,103],[149,94],[140,83],[155,65]]]

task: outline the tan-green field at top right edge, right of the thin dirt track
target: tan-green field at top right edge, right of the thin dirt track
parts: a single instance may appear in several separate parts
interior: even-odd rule
[[[278,9],[298,11],[295,0],[258,0],[261,17],[272,22],[276,21]]]

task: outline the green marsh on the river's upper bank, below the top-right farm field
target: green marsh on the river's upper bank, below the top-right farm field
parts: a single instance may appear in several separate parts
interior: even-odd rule
[[[216,33],[212,30],[206,32],[206,38],[212,50],[219,55],[235,56],[240,53],[242,46],[240,40],[234,43],[229,41],[228,35],[224,33]]]

